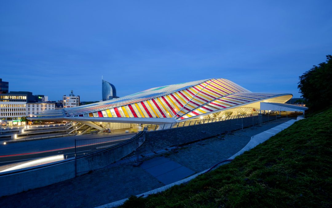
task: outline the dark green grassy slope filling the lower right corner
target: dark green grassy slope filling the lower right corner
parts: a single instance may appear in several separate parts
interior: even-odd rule
[[[231,163],[123,207],[332,207],[332,109],[295,122]]]

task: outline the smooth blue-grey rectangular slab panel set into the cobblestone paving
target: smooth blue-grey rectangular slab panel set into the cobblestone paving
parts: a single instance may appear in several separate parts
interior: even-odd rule
[[[195,173],[195,171],[166,157],[155,157],[144,161],[140,167],[165,185],[179,181]]]

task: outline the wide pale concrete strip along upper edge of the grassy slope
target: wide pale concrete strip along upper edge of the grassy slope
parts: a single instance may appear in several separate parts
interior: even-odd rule
[[[289,120],[285,123],[279,124],[275,127],[272,127],[266,131],[263,131],[259,134],[252,136],[250,141],[248,142],[248,144],[245,147],[243,147],[239,152],[237,152],[236,154],[234,154],[233,156],[231,156],[228,159],[234,159],[236,156],[243,154],[243,152],[254,148],[255,146],[257,146],[260,143],[263,143],[264,141],[268,140],[270,137],[276,135],[277,133],[284,130],[285,128],[288,128],[296,121],[297,120],[294,120],[294,119]]]

